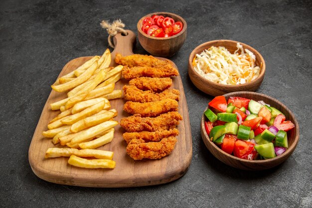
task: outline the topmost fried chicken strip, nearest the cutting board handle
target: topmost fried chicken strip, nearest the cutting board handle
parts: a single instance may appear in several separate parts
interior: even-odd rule
[[[133,54],[129,56],[122,56],[120,53],[116,54],[115,62],[124,66],[135,67],[135,66],[144,66],[144,67],[171,67],[172,65],[168,60],[160,60],[151,55],[141,55]]]

